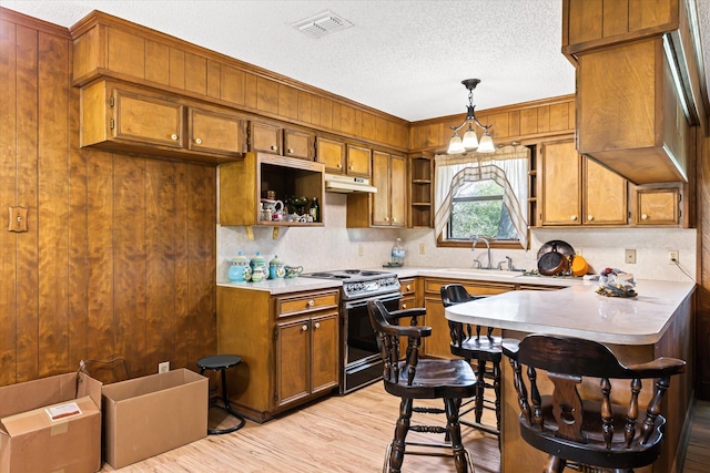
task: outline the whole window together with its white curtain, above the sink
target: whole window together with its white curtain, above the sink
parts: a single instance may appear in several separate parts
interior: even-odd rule
[[[505,146],[493,154],[437,155],[437,240],[456,246],[485,236],[527,248],[529,156],[526,146]]]

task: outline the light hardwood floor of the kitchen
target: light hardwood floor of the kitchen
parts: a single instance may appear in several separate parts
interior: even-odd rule
[[[221,411],[213,412],[220,415]],[[261,425],[247,421],[243,429],[231,434],[210,435],[119,471],[379,472],[386,445],[392,440],[397,412],[398,399],[387,394],[378,382],[345,397],[332,397],[316,402]],[[422,415],[425,417],[423,422],[436,420],[435,417],[425,414],[415,414],[413,419],[422,419]],[[489,415],[488,411],[485,415]],[[226,424],[226,421],[223,424]],[[499,472],[497,439],[466,426],[463,426],[463,433],[476,473]],[[430,438],[432,435],[410,433],[407,440]],[[442,438],[443,435],[437,440]],[[710,402],[699,402],[684,473],[710,472],[710,454],[707,453],[709,444]],[[455,471],[449,457],[422,455],[405,456],[403,470],[416,473]],[[110,471],[114,470],[105,464],[102,472]],[[530,469],[530,472],[537,471],[540,471],[540,467]]]

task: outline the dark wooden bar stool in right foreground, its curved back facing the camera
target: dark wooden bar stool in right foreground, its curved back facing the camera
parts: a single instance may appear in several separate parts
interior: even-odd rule
[[[684,361],[661,357],[623,366],[599,342],[541,333],[504,339],[503,350],[513,367],[520,436],[549,454],[545,472],[569,465],[627,473],[658,459],[666,425],[661,399],[670,378],[686,371]],[[578,389],[585,378],[594,383]],[[643,382],[651,388],[645,410]]]

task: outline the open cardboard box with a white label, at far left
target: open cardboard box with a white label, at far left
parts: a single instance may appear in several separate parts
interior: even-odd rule
[[[101,382],[75,372],[0,388],[0,472],[101,470]]]

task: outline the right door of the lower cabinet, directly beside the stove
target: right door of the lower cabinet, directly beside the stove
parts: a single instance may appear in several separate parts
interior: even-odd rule
[[[311,319],[312,393],[324,391],[338,384],[341,359],[338,322],[337,312]]]

